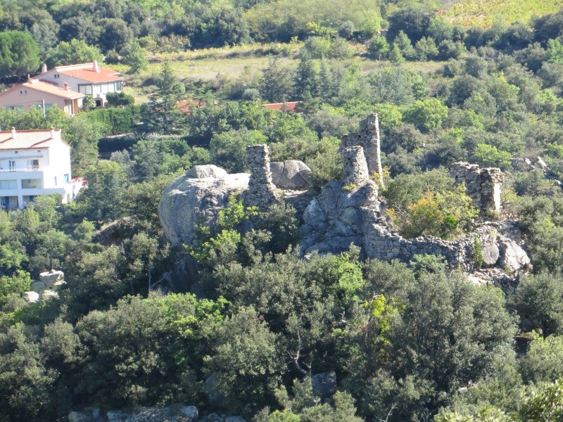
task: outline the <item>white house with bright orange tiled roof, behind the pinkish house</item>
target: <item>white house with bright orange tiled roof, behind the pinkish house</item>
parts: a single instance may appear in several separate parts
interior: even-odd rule
[[[123,82],[119,72],[101,68],[96,60],[80,65],[57,66],[51,70],[47,70],[47,66],[43,65],[41,73],[33,79],[59,87],[63,87],[66,83],[68,89],[94,97],[97,107],[106,105],[108,92],[121,92]]]

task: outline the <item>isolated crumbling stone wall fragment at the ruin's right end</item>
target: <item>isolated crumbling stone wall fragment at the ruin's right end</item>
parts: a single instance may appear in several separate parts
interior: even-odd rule
[[[465,183],[467,195],[472,198],[481,217],[490,215],[491,212],[500,212],[500,193],[504,180],[500,169],[481,169],[479,165],[469,162],[455,162],[450,175],[457,184]]]

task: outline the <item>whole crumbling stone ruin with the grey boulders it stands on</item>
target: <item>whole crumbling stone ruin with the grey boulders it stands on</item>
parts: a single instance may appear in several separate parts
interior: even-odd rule
[[[408,262],[414,255],[442,255],[450,267],[472,271],[474,245],[477,241],[483,248],[486,266],[500,268],[510,274],[529,268],[530,260],[521,248],[521,236],[514,222],[481,222],[473,233],[455,241],[445,241],[433,236],[407,239],[393,231],[382,215],[378,186],[369,178],[369,174],[377,169],[379,159],[374,158],[374,154],[377,155],[377,136],[374,134],[376,121],[377,117],[371,115],[360,122],[360,130],[356,134],[344,137],[341,146],[343,179],[329,182],[318,195],[312,191],[296,193],[282,186],[275,186],[270,169],[278,168],[279,171],[285,168],[286,164],[270,166],[265,145],[247,148],[248,166],[252,172],[250,177],[248,174],[229,174],[218,179],[208,177],[186,181],[184,177],[175,181],[165,190],[159,204],[159,215],[165,234],[172,243],[189,243],[189,229],[184,231],[188,236],[179,236],[172,229],[174,224],[178,224],[175,217],[182,217],[187,213],[191,215],[189,218],[193,223],[194,215],[200,213],[212,222],[220,206],[226,204],[229,193],[236,189],[244,191],[246,188],[243,192],[246,205],[255,205],[263,210],[277,200],[285,200],[296,207],[298,215],[303,215],[303,224],[299,228],[299,246],[303,256],[312,252],[344,252],[354,244],[360,247],[362,257]],[[459,162],[453,165],[451,174],[456,183],[465,184],[468,195],[480,210],[482,217],[500,210],[500,170],[480,169],[477,165]],[[279,175],[276,179],[279,179]],[[212,192],[214,187],[220,188],[229,184],[234,188],[231,191],[222,190],[217,195],[198,193],[201,200],[194,207],[188,203],[187,207],[182,207],[178,212],[168,210],[179,194],[186,195],[182,192],[182,184],[189,182],[199,186],[197,191],[200,192],[203,181],[208,184],[206,186],[212,186]],[[220,199],[210,203],[210,198]]]

